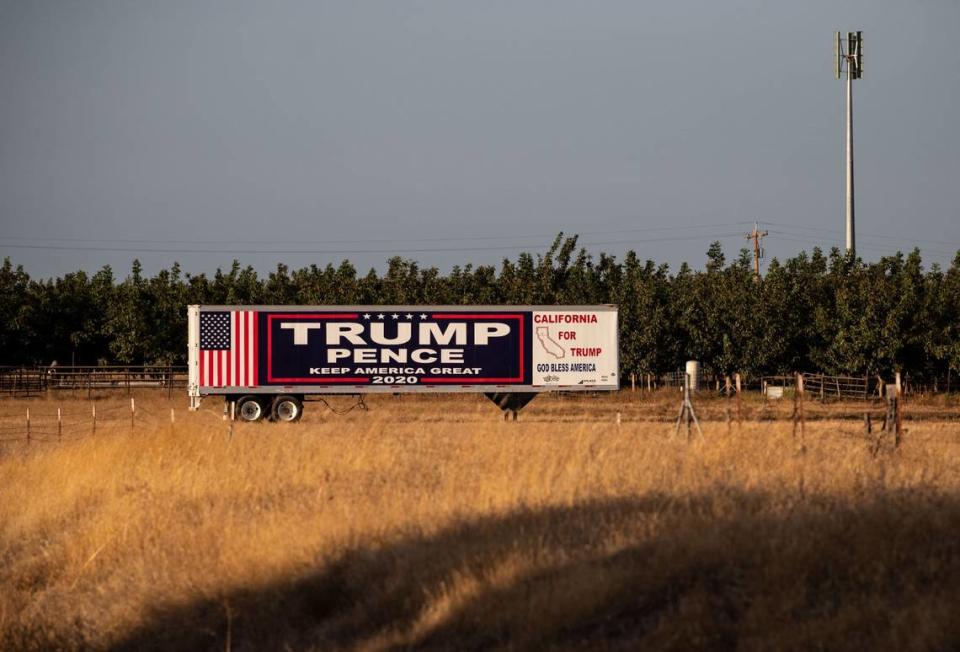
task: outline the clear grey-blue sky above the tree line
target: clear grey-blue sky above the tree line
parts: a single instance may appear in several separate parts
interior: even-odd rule
[[[960,249],[960,4],[0,2],[0,256],[702,267],[843,242],[832,32],[863,30],[858,250]]]

